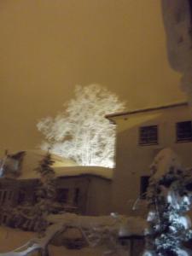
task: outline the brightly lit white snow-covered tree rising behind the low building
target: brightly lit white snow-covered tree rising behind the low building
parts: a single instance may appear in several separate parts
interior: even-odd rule
[[[38,122],[42,149],[75,160],[81,166],[114,165],[115,125],[105,115],[123,111],[124,102],[98,84],[76,86],[75,96],[55,118]]]

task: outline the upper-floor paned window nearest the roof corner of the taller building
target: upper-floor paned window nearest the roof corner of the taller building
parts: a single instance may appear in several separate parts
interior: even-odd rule
[[[158,127],[157,127],[157,125],[140,127],[139,144],[140,145],[158,144]]]

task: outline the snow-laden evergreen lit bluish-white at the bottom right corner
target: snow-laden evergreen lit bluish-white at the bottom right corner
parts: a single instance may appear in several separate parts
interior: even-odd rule
[[[189,211],[191,174],[183,171],[171,149],[164,149],[151,166],[148,187],[148,230],[143,256],[189,256],[183,241],[192,238]]]

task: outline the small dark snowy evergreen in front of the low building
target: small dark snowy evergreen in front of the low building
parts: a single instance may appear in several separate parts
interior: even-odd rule
[[[55,203],[55,172],[51,167],[53,163],[54,161],[51,160],[51,155],[48,152],[36,168],[40,180],[36,190],[37,202],[35,205],[25,203],[14,209],[10,208],[9,205],[3,207],[2,213],[8,216],[10,226],[23,230],[34,230],[39,233],[46,230],[47,216],[59,207]]]

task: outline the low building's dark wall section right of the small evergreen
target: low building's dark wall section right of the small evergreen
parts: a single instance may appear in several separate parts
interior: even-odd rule
[[[110,187],[108,179],[90,175],[80,177],[61,177],[57,189],[68,189],[67,202],[76,205],[84,215],[103,215],[109,212]],[[75,202],[75,198],[78,198]]]

